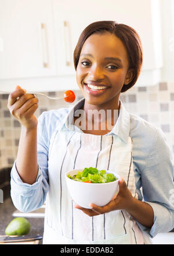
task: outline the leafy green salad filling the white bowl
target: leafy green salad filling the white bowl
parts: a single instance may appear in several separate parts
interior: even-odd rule
[[[78,171],[74,176],[68,174],[71,180],[85,182],[85,183],[108,183],[118,180],[112,173],[106,173],[106,170],[97,170],[96,168],[85,168],[82,172]]]

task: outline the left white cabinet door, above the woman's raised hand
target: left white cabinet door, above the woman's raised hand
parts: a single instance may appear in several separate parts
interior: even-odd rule
[[[52,1],[0,0],[0,38],[0,79],[56,75]]]

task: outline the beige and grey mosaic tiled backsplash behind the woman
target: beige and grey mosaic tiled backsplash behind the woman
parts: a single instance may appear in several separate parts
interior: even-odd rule
[[[82,94],[74,91],[77,102]],[[63,92],[48,92],[48,96],[62,96]],[[39,96],[37,117],[43,112],[60,107],[70,107],[72,104],[64,100],[49,100]],[[121,94],[125,108],[139,115],[148,122],[164,131],[166,141],[174,153],[174,83],[160,83],[150,87],[132,87]],[[0,95],[0,169],[10,167],[17,156],[20,138],[20,123],[12,117],[8,107],[8,95]],[[174,163],[174,160],[173,160]]]

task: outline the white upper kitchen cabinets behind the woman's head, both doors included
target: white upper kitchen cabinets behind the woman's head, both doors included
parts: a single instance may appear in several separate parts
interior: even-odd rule
[[[144,60],[137,86],[160,82],[161,1],[0,0],[0,89],[78,89],[73,53],[88,24],[115,20],[136,29]]]

